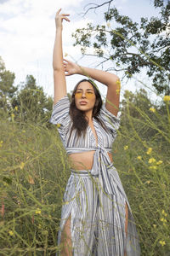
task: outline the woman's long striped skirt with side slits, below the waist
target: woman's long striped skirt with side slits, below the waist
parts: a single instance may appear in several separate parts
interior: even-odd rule
[[[61,212],[58,244],[66,220],[71,218],[73,256],[140,255],[139,238],[122,183],[112,164],[107,171],[114,195],[106,194],[99,186],[98,175],[86,170],[71,169]]]

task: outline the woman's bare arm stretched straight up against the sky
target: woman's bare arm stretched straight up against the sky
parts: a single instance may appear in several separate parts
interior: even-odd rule
[[[63,20],[70,21],[68,14],[59,14],[59,9],[55,16],[56,34],[54,41],[53,68],[54,68],[54,104],[66,95],[65,69],[63,67],[62,48],[62,28]]]

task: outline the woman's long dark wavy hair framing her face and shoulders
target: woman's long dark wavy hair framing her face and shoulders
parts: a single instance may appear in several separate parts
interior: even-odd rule
[[[76,84],[72,92],[70,112],[69,112],[72,119],[71,133],[74,129],[76,129],[78,137],[80,137],[82,134],[85,137],[85,134],[88,128],[88,120],[85,119],[85,111],[78,109],[75,102],[75,93],[77,91],[77,87],[82,82],[88,82],[89,84],[92,84],[94,88],[94,94],[96,96],[96,102],[94,105],[92,117],[94,117],[94,119],[96,119],[99,122],[99,124],[105,129],[105,131],[107,131],[105,123],[98,117],[99,111],[100,111],[100,108],[102,107],[103,102],[102,102],[99,90],[97,88],[97,85],[94,84],[94,81],[91,79],[82,79]],[[70,134],[70,137],[71,137],[71,134]]]

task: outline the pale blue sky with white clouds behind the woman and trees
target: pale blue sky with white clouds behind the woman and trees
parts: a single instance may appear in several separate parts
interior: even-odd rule
[[[37,85],[43,87],[48,96],[54,95],[53,81],[53,49],[55,38],[56,11],[62,8],[63,13],[70,14],[71,22],[64,20],[63,51],[69,60],[78,61],[85,67],[95,67],[92,58],[82,58],[80,47],[73,47],[74,39],[71,33],[77,28],[86,26],[87,22],[102,24],[102,14],[105,7],[94,13],[90,10],[85,17],[83,12],[88,9],[88,3],[104,3],[104,0],[0,0],[0,56],[6,69],[15,73],[14,85],[26,81],[26,75],[33,75]],[[115,6],[120,14],[128,15],[133,21],[139,21],[141,16],[156,15],[153,0],[115,0]],[[143,79],[143,73],[138,77]],[[71,91],[79,75],[67,77],[67,90]],[[101,94],[105,96],[106,86],[99,85]],[[135,78],[122,86],[124,90],[139,89]],[[137,88],[138,87],[138,88]],[[121,96],[122,96],[121,95]]]

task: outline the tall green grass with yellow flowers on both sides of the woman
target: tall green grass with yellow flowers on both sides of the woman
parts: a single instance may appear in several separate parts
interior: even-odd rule
[[[133,210],[142,255],[170,255],[169,108],[149,116],[130,105],[113,144],[113,160]],[[138,119],[131,115],[133,108]],[[57,128],[3,118],[0,129],[0,255],[54,255],[70,176]]]

